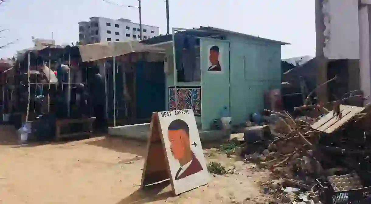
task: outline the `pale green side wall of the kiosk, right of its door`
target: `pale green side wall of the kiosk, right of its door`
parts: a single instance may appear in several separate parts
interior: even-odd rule
[[[264,93],[281,85],[281,45],[229,35],[232,124],[264,109]]]

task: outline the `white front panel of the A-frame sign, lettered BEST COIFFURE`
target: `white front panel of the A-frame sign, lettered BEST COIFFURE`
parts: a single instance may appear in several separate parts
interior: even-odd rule
[[[207,184],[209,172],[193,110],[158,112],[158,118],[175,194]]]

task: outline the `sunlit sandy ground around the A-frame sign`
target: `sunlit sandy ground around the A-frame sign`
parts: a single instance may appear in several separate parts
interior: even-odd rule
[[[251,168],[205,147],[208,161],[236,166],[237,174],[174,197],[170,186],[140,190],[146,144],[104,136],[79,141],[16,145],[9,128],[0,126],[0,203],[4,204],[144,204],[269,203],[259,182],[267,172]],[[212,152],[212,153],[211,153]],[[211,155],[211,156],[209,156]]]

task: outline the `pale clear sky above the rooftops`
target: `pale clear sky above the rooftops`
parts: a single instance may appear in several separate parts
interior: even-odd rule
[[[76,42],[79,21],[101,16],[126,18],[138,23],[138,9],[102,0],[6,0],[0,8],[0,57],[32,47],[31,36]],[[137,6],[137,0],[111,0]],[[169,0],[170,27],[213,26],[291,43],[282,46],[282,58],[315,56],[315,5],[313,0]],[[142,0],[142,23],[166,33],[165,0]]]

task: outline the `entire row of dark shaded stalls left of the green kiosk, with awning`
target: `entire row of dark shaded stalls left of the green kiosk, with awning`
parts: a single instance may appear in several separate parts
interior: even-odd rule
[[[137,112],[141,115],[143,111],[162,111],[165,96],[161,107],[154,105],[154,110],[137,106],[137,99],[139,96],[144,102],[142,95],[148,95],[148,90],[160,91],[154,89],[158,87],[157,81],[165,83],[161,77],[148,78],[164,75],[163,52],[162,48],[138,41],[24,50],[19,53],[14,69],[15,100],[11,115],[20,113],[18,123],[40,140],[92,134],[93,123],[95,128],[102,128],[106,117],[112,118],[112,125],[116,126],[116,118],[137,118]],[[153,73],[143,72],[151,68]],[[142,94],[138,95],[137,89]],[[161,92],[164,89],[161,86]]]

